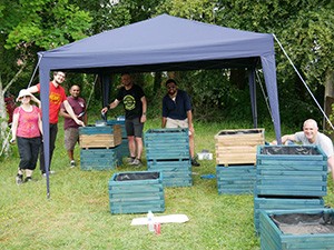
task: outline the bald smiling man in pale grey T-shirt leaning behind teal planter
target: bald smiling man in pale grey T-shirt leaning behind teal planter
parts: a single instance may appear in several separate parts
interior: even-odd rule
[[[287,141],[301,142],[304,146],[318,146],[327,156],[328,171],[332,171],[332,178],[334,180],[334,149],[332,140],[318,132],[317,123],[313,119],[304,121],[303,131],[294,134],[285,134],[282,137],[282,143]],[[273,141],[272,144],[277,144],[277,141]]]

